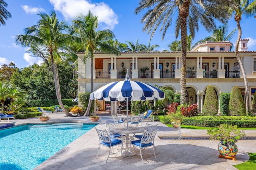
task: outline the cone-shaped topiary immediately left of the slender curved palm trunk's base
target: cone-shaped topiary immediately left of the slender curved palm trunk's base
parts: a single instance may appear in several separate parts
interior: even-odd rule
[[[238,86],[232,88],[229,100],[229,115],[230,116],[245,116],[246,109],[244,100]]]

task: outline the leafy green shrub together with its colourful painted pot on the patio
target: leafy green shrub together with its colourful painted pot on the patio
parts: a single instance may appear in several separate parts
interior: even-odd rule
[[[216,128],[207,130],[211,140],[219,140],[218,151],[220,152],[219,158],[231,158],[236,160],[235,156],[238,152],[236,142],[241,137],[245,136],[243,130],[237,129],[236,125],[221,124]]]

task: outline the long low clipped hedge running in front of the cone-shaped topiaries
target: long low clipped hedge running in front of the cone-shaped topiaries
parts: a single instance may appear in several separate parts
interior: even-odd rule
[[[165,124],[171,124],[168,116],[159,116],[159,120]],[[182,125],[217,127],[220,124],[228,123],[238,127],[256,127],[256,117],[250,116],[195,116],[186,117]]]

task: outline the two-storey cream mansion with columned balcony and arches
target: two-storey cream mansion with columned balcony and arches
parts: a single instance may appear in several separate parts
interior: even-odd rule
[[[252,97],[256,89],[256,51],[247,50],[248,41],[241,39],[238,51],[246,71],[249,95]],[[218,99],[220,94],[231,92],[235,85],[240,88],[244,96],[244,79],[236,54],[230,51],[231,46],[230,41],[204,42],[187,52],[186,101],[190,104],[198,104],[200,111],[208,85],[215,88]],[[126,70],[133,81],[169,87],[174,92],[180,93],[181,52],[121,52],[120,56],[95,52],[93,72],[91,72],[90,59],[86,64],[83,62],[84,52],[76,54],[78,55],[78,94],[91,91],[91,74],[94,78],[93,90],[96,90],[110,82],[124,80]],[[100,105],[103,105],[102,110],[106,109],[105,104]],[[111,113],[116,113],[116,104],[111,108]]]

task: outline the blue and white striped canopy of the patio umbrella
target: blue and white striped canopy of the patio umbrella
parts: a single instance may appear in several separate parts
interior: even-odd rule
[[[105,101],[162,100],[164,92],[150,84],[130,80],[127,72],[123,81],[102,86],[90,94],[90,99],[104,99]]]

